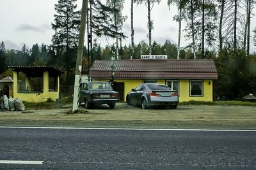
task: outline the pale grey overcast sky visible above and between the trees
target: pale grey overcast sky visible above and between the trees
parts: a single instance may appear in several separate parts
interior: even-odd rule
[[[54,4],[58,0],[1,0],[0,10],[0,41],[4,41],[6,48],[21,50],[25,44],[31,48],[35,43],[38,45],[51,44],[53,31],[51,23],[54,22]],[[82,0],[77,4],[81,9]],[[127,15],[123,31],[128,38],[122,44],[131,43],[131,18],[130,18],[131,1],[125,1],[123,15]],[[255,11],[255,10],[254,10]],[[173,21],[173,16],[177,14],[177,8],[173,6],[168,9],[166,1],[155,4],[151,16],[154,20],[154,30],[152,31],[152,42],[163,44],[166,39],[172,43],[177,43],[178,23]],[[185,22],[182,23],[183,29]],[[255,17],[252,18],[252,27],[256,27]],[[142,5],[134,5],[134,41],[139,43],[141,40],[148,42],[147,38],[147,8]],[[107,41],[108,40],[108,41]],[[109,38],[99,38],[97,43],[105,46],[113,44]],[[186,46],[188,41],[182,34],[181,46]],[[251,45],[251,50],[256,51],[255,46]]]

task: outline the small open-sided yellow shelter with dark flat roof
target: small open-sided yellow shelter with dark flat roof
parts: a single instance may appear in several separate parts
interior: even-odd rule
[[[49,66],[10,66],[13,71],[13,98],[44,102],[60,98],[60,74]]]

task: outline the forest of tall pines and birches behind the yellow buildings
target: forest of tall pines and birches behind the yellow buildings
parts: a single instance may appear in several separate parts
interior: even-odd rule
[[[52,66],[60,69],[61,85],[74,85],[76,55],[81,10],[76,0],[58,0],[52,20],[51,44],[25,44],[20,50],[6,49],[0,42],[0,80],[12,76],[8,66]],[[89,0],[86,22],[87,45],[83,49],[83,70],[88,71],[93,60],[140,59],[140,55],[167,55],[168,59],[213,59],[218,71],[214,80],[214,99],[241,99],[256,94],[256,27],[251,26],[256,0],[167,0],[166,6],[175,6],[178,13],[170,21],[177,22],[177,43],[170,38],[161,44],[152,39],[154,20],[151,13],[161,0],[131,0],[131,15],[123,15],[124,0]],[[148,41],[134,43],[133,7],[145,4],[147,8]],[[255,11],[255,10],[254,10]],[[131,19],[131,34],[124,34],[123,24]],[[182,30],[181,25],[186,25]],[[100,46],[95,39],[106,36],[115,39],[112,45]],[[171,35],[170,35],[171,36]],[[187,46],[180,46],[180,37],[186,37]],[[131,43],[122,44],[122,39]]]

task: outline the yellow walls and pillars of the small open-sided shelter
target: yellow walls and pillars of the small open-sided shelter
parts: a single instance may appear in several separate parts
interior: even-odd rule
[[[28,81],[29,79],[26,79]],[[59,85],[59,77],[58,77],[58,87],[57,91],[55,92],[49,92],[49,73],[47,71],[44,72],[44,92],[19,92],[19,83],[18,83],[18,74],[16,71],[13,71],[13,98],[20,98],[22,101],[28,101],[28,102],[44,102],[48,99],[52,99],[52,101],[55,101],[56,99],[59,99],[59,91],[60,91],[60,85]],[[26,82],[28,85],[29,82]]]

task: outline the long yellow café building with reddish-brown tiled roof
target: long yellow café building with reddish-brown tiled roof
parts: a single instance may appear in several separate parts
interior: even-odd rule
[[[213,60],[134,59],[95,60],[88,77],[109,81],[111,65],[115,66],[114,90],[121,99],[141,83],[161,83],[177,90],[182,101],[212,101],[213,80],[218,79]]]

